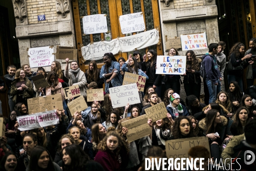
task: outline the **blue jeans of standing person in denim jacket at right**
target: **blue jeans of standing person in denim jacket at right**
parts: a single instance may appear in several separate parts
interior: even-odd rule
[[[221,91],[221,81],[218,79],[218,85],[214,85],[212,83],[212,80],[205,80],[207,87],[208,87],[208,91],[209,91],[209,104],[214,103],[216,100],[216,97],[218,95],[218,93]]]

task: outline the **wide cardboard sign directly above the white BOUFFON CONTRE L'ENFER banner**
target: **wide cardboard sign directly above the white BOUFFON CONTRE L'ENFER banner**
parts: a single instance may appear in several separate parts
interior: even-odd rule
[[[48,110],[63,110],[61,93],[27,99],[29,114]]]

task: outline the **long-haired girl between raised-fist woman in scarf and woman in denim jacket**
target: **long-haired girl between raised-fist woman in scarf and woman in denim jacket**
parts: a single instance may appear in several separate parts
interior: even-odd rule
[[[90,61],[89,69],[85,72],[85,77],[87,83],[85,84],[88,87],[88,84],[91,82],[96,82],[99,88],[103,88],[104,79],[99,77],[100,71],[98,70],[96,61]]]

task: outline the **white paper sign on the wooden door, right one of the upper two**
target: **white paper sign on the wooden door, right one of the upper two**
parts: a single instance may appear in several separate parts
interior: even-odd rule
[[[145,22],[142,12],[121,15],[119,17],[119,23],[122,34],[145,30]]]

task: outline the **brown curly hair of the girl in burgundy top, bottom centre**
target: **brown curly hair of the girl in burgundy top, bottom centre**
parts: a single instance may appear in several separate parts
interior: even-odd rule
[[[99,142],[99,144],[97,146],[97,149],[99,151],[108,150],[107,140],[108,140],[108,137],[110,137],[110,136],[115,136],[118,139],[118,147],[113,151],[116,154],[116,156],[119,154],[119,151],[122,146],[127,151],[127,154],[129,153],[130,146],[128,145],[128,142],[125,142],[125,139],[123,139],[122,136],[119,135],[119,133],[116,131],[116,128],[114,128],[114,127],[108,128],[107,135],[102,139],[101,142]]]

